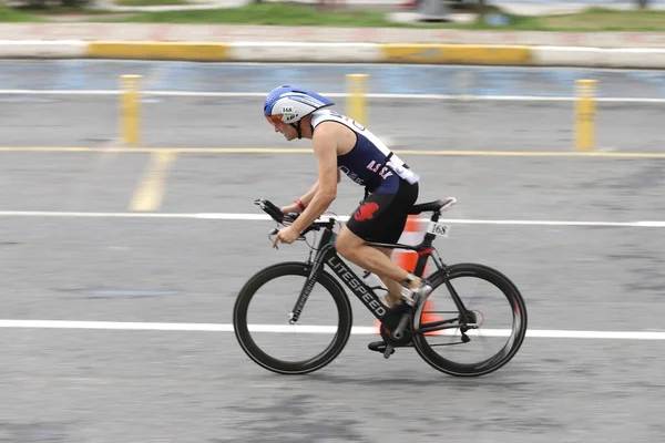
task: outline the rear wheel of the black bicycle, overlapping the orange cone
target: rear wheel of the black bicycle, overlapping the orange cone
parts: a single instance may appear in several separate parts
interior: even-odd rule
[[[467,331],[446,278],[467,309]],[[412,322],[415,331],[430,328],[413,336],[413,346],[424,361],[450,375],[478,377],[497,371],[515,356],[526,333],[526,306],[507,276],[484,265],[459,264],[448,267],[448,277],[446,271],[437,270],[428,279],[434,289],[428,302],[415,312]],[[480,290],[472,292],[469,287]],[[434,303],[439,307],[432,311]],[[504,323],[492,328],[502,319]],[[483,328],[488,320],[491,329]],[[472,357],[477,349],[489,349],[490,356]]]

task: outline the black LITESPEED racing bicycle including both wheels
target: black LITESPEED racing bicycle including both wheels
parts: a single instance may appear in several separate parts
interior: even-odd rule
[[[369,286],[365,280],[368,272],[360,277],[337,254],[336,219],[321,222],[319,218],[313,223],[298,238],[307,241],[307,234],[321,234],[315,244],[307,241],[309,257],[306,261],[269,266],[255,274],[241,289],[233,310],[233,324],[244,352],[269,371],[304,374],[335,360],[356,331],[380,334],[386,342],[386,359],[398,348],[415,348],[427,363],[450,375],[478,377],[502,368],[522,346],[526,333],[526,307],[516,286],[500,271],[480,264],[446,265],[442,261],[432,243],[438,236],[448,237],[450,226],[440,224],[439,217],[454,203],[456,199],[449,197],[411,208],[409,214],[412,215],[432,213],[418,245],[367,243],[417,254],[413,274],[419,277],[424,275],[430,258],[434,264],[433,272],[426,276],[432,292],[426,300],[408,306],[397,322],[393,319],[386,321],[388,311],[377,296],[378,290],[386,290],[385,287]],[[278,226],[288,226],[298,217],[298,214],[283,214],[269,200],[257,199],[255,204]],[[277,228],[273,229],[268,237],[277,231]],[[326,266],[338,279],[325,269]],[[351,303],[341,284],[371,312],[377,327],[352,327]],[[471,296],[467,297],[469,293]],[[497,297],[492,297],[493,293]],[[258,305],[260,300],[266,305],[256,309],[260,319],[254,320],[250,312],[254,312],[254,303]],[[439,305],[439,309],[433,305]],[[266,320],[265,316],[273,311],[278,317]],[[503,317],[507,323],[502,327],[484,329],[488,320]],[[290,340],[283,333],[288,333]],[[324,342],[315,343],[318,339]],[[438,340],[442,342],[438,343]],[[295,344],[290,352],[269,350],[288,343]],[[443,352],[439,353],[437,349]],[[311,350],[315,356],[295,356]],[[489,357],[473,357],[477,350],[489,350]]]

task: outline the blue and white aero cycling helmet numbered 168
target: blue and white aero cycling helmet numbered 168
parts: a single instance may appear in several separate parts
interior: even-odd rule
[[[298,131],[298,138],[300,138],[300,120],[321,107],[334,104],[316,92],[285,84],[268,93],[264,102],[264,115],[272,125],[280,121],[290,124]]]

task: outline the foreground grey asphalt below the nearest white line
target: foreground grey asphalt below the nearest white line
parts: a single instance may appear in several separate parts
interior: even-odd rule
[[[13,343],[12,369],[0,372],[9,441],[601,443],[664,433],[654,342],[532,341],[502,373],[459,380],[412,354],[367,356],[358,339],[326,372],[284,378],[248,365],[229,334],[2,337]]]

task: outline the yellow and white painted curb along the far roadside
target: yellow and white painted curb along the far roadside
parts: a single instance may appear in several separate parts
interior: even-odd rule
[[[4,40],[0,58],[665,69],[665,49],[439,43]]]

